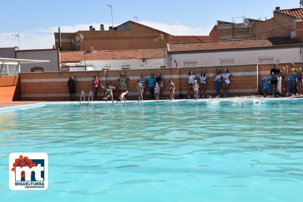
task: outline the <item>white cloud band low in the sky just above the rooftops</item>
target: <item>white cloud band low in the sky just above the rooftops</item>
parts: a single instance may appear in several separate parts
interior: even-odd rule
[[[141,21],[139,22],[146,26],[170,33],[174,36],[179,35],[208,35],[213,25],[202,27],[189,27],[182,24],[163,24],[159,22]],[[100,29],[99,23],[90,24],[77,24],[74,26],[61,26],[61,32],[76,32],[78,30],[89,30],[89,26],[92,25],[96,30]],[[108,26],[111,24],[104,24],[105,30],[108,30]],[[37,28],[33,30],[27,30],[20,32],[20,47],[22,50],[26,49],[50,49],[54,44],[54,32],[58,32],[58,27],[46,27]],[[0,48],[14,47],[18,45],[18,38],[14,32],[2,32],[0,33]]]

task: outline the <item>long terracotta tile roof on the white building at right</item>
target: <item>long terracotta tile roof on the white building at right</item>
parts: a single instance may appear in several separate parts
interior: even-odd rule
[[[168,45],[168,52],[269,48],[269,47],[285,47],[285,46],[299,46],[299,45],[301,46],[302,42],[297,39],[290,39],[285,37],[258,38],[258,39],[195,42],[195,43],[173,43]]]

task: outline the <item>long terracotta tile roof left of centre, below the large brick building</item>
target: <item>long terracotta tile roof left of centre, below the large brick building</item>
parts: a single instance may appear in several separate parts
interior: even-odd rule
[[[155,59],[164,58],[164,49],[140,50],[96,50],[85,53],[86,60],[119,60],[119,59]],[[62,62],[77,62],[84,60],[84,51],[60,52]]]

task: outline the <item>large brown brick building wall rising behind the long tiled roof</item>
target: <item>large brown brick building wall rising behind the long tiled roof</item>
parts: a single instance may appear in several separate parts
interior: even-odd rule
[[[84,42],[80,42],[80,50],[132,50],[132,49],[160,49],[164,48],[168,42],[168,35],[165,32],[153,29],[151,27],[130,22],[130,30],[96,30],[96,31],[77,31],[76,33],[61,33],[62,51],[74,51],[75,45],[71,44],[72,37],[84,36]],[[154,41],[160,37],[160,34],[166,36],[164,40]],[[56,47],[59,47],[59,34],[54,33]]]

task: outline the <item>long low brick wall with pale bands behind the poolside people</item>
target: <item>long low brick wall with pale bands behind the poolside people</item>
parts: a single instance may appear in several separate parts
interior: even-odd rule
[[[297,64],[300,66],[302,63]],[[281,69],[285,64],[279,64]],[[290,66],[290,64],[287,64]],[[169,98],[168,81],[172,79],[176,85],[175,97],[179,94],[187,96],[188,85],[187,75],[190,70],[194,72],[196,77],[200,76],[202,70],[206,72],[207,84],[206,94],[214,96],[215,87],[213,84],[213,74],[216,69],[224,70],[224,66],[207,66],[195,68],[161,68],[148,70],[125,70],[125,71],[95,71],[95,72],[62,72],[62,73],[21,73],[21,92],[22,100],[68,100],[69,94],[67,89],[67,81],[70,76],[76,79],[76,100],[79,99],[81,91],[86,93],[88,97],[91,91],[91,82],[94,76],[98,76],[99,81],[104,86],[109,81],[112,81],[116,88],[119,87],[117,79],[121,72],[130,79],[127,82],[129,99],[136,98],[135,84],[139,80],[140,75],[144,75],[146,79],[150,74],[156,75],[157,72],[163,78],[164,90],[163,97]],[[228,93],[230,95],[251,95],[257,94],[258,83],[263,77],[269,76],[269,71],[272,68],[268,65],[230,65],[229,72],[233,75],[231,84],[229,85]],[[197,79],[198,82],[199,79]],[[147,85],[148,87],[148,85]],[[116,95],[116,94],[115,94]],[[104,96],[104,90],[99,89],[98,99]],[[146,90],[146,97],[149,96],[149,90]],[[184,97],[185,97],[184,96]]]

